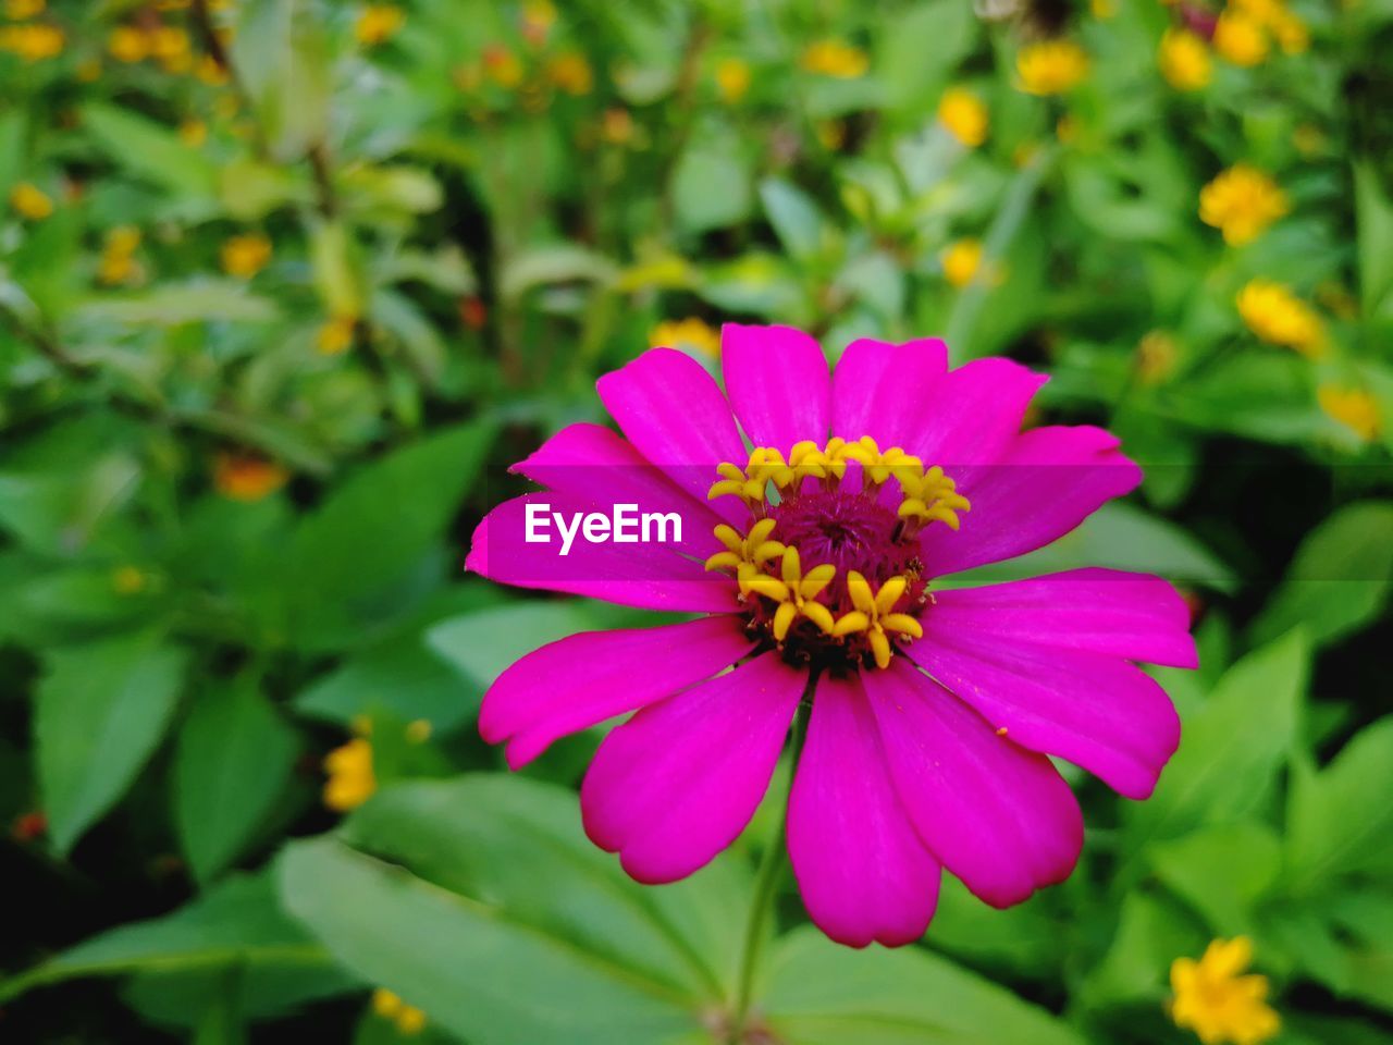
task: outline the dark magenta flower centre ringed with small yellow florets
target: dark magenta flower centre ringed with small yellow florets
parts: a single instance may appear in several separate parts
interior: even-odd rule
[[[932,601],[921,577],[919,532],[957,529],[970,510],[953,479],[900,447],[865,436],[755,447],[741,468],[717,468],[712,499],[740,497],[749,529],[716,527],[726,546],[708,570],[733,574],[752,635],[794,663],[850,670],[887,667],[919,638]]]

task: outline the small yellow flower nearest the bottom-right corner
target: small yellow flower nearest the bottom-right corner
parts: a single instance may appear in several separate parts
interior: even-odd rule
[[[1213,940],[1198,961],[1178,957],[1170,966],[1176,998],[1170,1019],[1194,1031],[1205,1045],[1261,1045],[1276,1037],[1282,1020],[1268,1005],[1268,978],[1247,974],[1252,940]]]

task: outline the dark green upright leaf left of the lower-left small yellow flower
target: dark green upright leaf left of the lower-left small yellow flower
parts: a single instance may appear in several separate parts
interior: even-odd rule
[[[273,814],[299,754],[256,680],[205,687],[174,751],[174,816],[194,875],[230,864]]]

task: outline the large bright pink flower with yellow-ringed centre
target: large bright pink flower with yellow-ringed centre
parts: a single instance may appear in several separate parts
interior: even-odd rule
[[[1133,662],[1197,665],[1185,605],[1113,570],[935,581],[1055,541],[1141,470],[1098,428],[1021,432],[1045,376],[1007,359],[949,371],[942,341],[859,340],[829,375],[808,334],[731,325],[722,359],[729,401],[669,348],[602,378],[623,436],[573,425],[547,440],[515,471],[549,490],[490,513],[467,560],[702,616],[529,653],[485,697],[483,737],[518,768],[637,712],[600,744],[581,810],[630,875],[670,882],[745,828],[811,702],[788,854],[812,920],[853,946],[918,939],[940,868],[997,907],[1063,881],[1084,825],[1046,755],[1151,794],[1180,725]],[[581,542],[571,563],[508,536],[539,500],[642,503],[690,532]]]

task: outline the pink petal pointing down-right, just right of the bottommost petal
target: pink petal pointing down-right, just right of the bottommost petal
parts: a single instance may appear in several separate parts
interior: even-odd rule
[[[995,733],[904,658],[864,684],[900,800],[949,871],[993,907],[1068,878],[1084,816],[1048,758]]]

